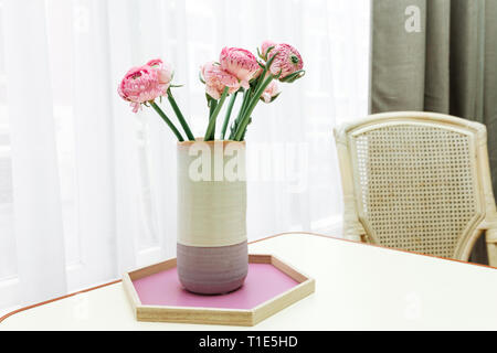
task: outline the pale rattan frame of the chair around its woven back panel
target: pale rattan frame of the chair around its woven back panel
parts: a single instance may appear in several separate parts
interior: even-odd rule
[[[483,124],[450,115],[424,111],[394,111],[370,115],[366,119],[343,124],[334,129],[343,192],[343,236],[347,239],[378,244],[360,203],[356,151],[352,138],[385,126],[431,125],[468,136],[472,178],[475,181],[477,210],[459,236],[452,258],[468,260],[478,237],[485,232],[489,265],[497,267],[497,211],[491,189],[487,150],[487,129]]]

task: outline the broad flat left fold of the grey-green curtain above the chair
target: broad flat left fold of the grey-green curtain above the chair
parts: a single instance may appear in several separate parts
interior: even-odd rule
[[[413,28],[408,32],[405,13],[409,9],[424,14],[426,0],[372,2],[371,113],[423,110],[426,17],[419,18],[421,31]]]

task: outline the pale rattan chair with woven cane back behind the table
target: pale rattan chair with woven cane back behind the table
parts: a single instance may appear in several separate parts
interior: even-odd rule
[[[346,238],[467,260],[485,231],[490,266],[497,266],[484,125],[387,113],[336,128],[335,139]]]

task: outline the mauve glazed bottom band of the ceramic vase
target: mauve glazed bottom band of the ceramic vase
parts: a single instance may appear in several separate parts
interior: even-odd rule
[[[242,287],[248,270],[246,242],[219,247],[178,244],[181,285],[199,295],[222,295]]]

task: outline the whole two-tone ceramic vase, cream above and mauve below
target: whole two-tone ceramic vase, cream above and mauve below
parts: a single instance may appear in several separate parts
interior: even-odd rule
[[[245,142],[178,142],[181,285],[200,295],[239,289],[247,275]]]

